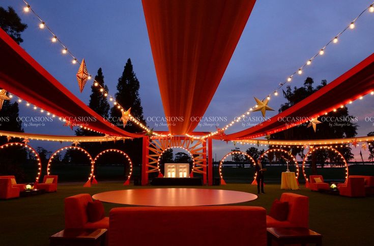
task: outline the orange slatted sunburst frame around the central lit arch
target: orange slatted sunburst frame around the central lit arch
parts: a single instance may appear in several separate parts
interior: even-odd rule
[[[168,139],[152,139],[152,142],[147,146],[149,153],[147,158],[149,159],[147,173],[158,172],[159,177],[162,177],[161,170],[159,169],[160,157],[169,148],[182,148],[190,153],[193,161],[193,168],[190,176],[193,173],[200,173],[207,175],[206,168],[206,147],[200,140],[183,138],[183,137],[172,137]],[[151,153],[152,152],[152,153]]]

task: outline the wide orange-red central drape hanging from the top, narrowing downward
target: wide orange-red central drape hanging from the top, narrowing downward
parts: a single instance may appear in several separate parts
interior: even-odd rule
[[[162,104],[172,135],[203,116],[255,0],[142,0]]]

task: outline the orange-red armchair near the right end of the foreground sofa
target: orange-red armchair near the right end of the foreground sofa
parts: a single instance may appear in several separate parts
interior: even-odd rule
[[[283,193],[280,196],[280,201],[289,203],[287,220],[277,221],[270,216],[266,216],[266,227],[309,228],[309,197],[294,193]]]

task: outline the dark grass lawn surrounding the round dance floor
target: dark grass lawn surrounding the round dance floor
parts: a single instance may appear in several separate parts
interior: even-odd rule
[[[0,245],[49,245],[49,236],[64,228],[65,197],[80,193],[94,195],[112,190],[151,188],[124,187],[122,182],[100,182],[91,188],[82,185],[59,185],[57,193],[0,201]],[[255,186],[245,184],[194,188],[256,193]],[[265,192],[258,199],[240,205],[262,206],[269,211],[273,200],[285,191],[280,190],[279,184],[268,184]],[[324,245],[373,245],[374,197],[347,198],[311,192],[305,188],[292,192],[310,198],[309,225],[323,235]],[[111,208],[119,207],[118,204],[109,203],[104,203],[104,206],[107,214]],[[157,221],[150,218],[148,225],[157,226]]]

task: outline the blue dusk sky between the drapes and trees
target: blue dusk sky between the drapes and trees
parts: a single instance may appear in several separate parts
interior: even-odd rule
[[[109,94],[116,93],[118,78],[130,57],[140,81],[139,94],[145,118],[164,116],[140,0],[30,0],[29,4],[78,60],[85,59],[91,74],[95,75],[98,68],[102,68]],[[279,82],[298,70],[370,4],[368,0],[258,0],[205,116],[227,118],[229,122],[244,113],[254,105],[253,97],[266,97]],[[50,41],[47,30],[39,29],[40,22],[34,15],[22,12],[25,6],[23,2],[3,0],[0,6],[12,6],[22,22],[28,25],[22,34],[24,42],[21,46],[74,95],[88,104],[91,83],[88,82],[83,93],[79,93],[75,77],[78,65],[72,65],[71,57],[61,53],[61,46]],[[304,69],[301,76],[296,75],[290,85],[301,86],[306,77],[312,77],[315,85],[323,79],[331,82],[351,69],[373,52],[373,27],[374,13],[367,11],[356,22],[353,30],[347,30],[337,44],[330,45],[322,57],[315,58],[312,65]],[[279,96],[269,102],[269,106],[276,111],[267,112],[267,116],[275,115],[279,106],[285,102],[279,92]],[[368,95],[348,107],[350,114],[359,118],[357,136],[374,131],[374,122],[365,121],[365,117],[374,115],[373,102],[374,99]],[[20,115],[30,114],[34,115],[34,112],[21,104]],[[261,116],[261,113],[257,112],[253,116]],[[219,127],[227,124],[224,121],[218,123]],[[74,134],[62,125],[57,120],[46,122],[44,127],[23,128],[27,133]],[[166,127],[156,127],[154,122],[148,122],[148,126],[156,131],[167,130]],[[229,128],[227,133],[243,129],[243,126],[237,125]],[[195,129],[207,132],[215,130],[215,126]],[[61,146],[60,143],[37,141],[30,144],[51,151]],[[65,145],[63,143],[62,146]],[[233,147],[232,143],[214,141],[213,153],[217,159],[221,159]],[[248,145],[239,147],[244,150]],[[357,149],[354,153],[355,159],[360,160]],[[363,151],[363,154],[367,156],[368,151]]]

